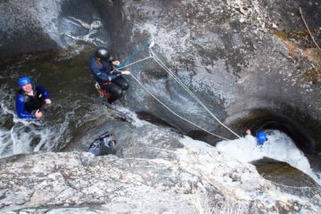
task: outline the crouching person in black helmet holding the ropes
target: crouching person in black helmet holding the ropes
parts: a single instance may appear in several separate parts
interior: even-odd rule
[[[115,67],[119,61],[113,61],[111,53],[104,47],[99,47],[90,57],[89,69],[99,86],[111,95],[108,103],[118,100],[128,90],[128,81],[121,75],[129,75],[130,71],[118,71]]]

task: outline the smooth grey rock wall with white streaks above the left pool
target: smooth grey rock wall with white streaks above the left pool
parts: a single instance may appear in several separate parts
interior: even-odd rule
[[[92,1],[2,1],[0,12],[0,58],[78,42],[110,45]]]

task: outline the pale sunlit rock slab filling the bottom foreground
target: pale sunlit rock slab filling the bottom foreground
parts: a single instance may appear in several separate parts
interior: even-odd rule
[[[148,127],[149,133],[159,133]],[[133,137],[119,145],[120,156],[127,158],[88,152],[4,158],[0,209],[3,213],[317,213],[320,208],[317,185],[305,189],[309,197],[299,198],[297,192],[286,193],[291,192],[289,187],[279,191],[251,164],[233,161],[207,144],[175,133],[161,141],[150,144]],[[142,148],[144,152],[139,152]]]

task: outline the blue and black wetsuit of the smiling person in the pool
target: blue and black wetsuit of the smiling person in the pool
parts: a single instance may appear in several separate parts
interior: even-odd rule
[[[32,111],[40,109],[49,98],[49,93],[43,86],[34,84],[32,86],[34,95],[25,95],[23,90],[19,90],[16,99],[16,111],[21,119],[35,119],[36,115]]]

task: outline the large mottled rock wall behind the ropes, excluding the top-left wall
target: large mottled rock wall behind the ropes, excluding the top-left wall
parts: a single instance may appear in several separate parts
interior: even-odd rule
[[[311,2],[317,5],[316,1]],[[321,104],[320,85],[302,81],[311,64],[300,54],[301,47],[292,49],[278,36],[283,30],[306,30],[298,13],[299,6],[307,11],[311,7],[300,1],[293,4],[236,0],[163,1],[157,4],[123,1],[121,17],[124,28],[117,30],[117,34],[125,38],[128,35],[125,40],[135,45],[157,41],[163,47],[162,54],[169,61],[169,68],[177,72],[185,85],[201,97],[219,119],[236,124],[234,128],[239,133],[246,127],[255,127],[258,122],[268,123],[268,120],[260,121],[259,115],[253,123],[238,122],[239,115],[246,116],[243,111],[258,109],[276,115],[270,118],[271,121],[280,115],[288,118],[286,123],[291,125],[290,120],[294,119],[299,124],[296,132],[305,129],[314,139],[320,139],[321,134],[317,131],[321,119],[318,108]],[[313,16],[317,14],[313,13]],[[306,13],[307,20],[309,15],[312,14]],[[311,26],[315,23],[312,22]],[[126,48],[123,50],[130,53]],[[163,70],[151,69],[147,63],[137,66],[136,70],[144,84],[153,88],[155,93],[166,92],[166,95],[159,96],[169,106],[176,109],[173,105],[184,103],[184,107],[176,109],[180,115],[190,120],[198,119],[204,128],[218,128],[218,123],[172,78],[160,78],[159,73]],[[146,79],[151,73],[154,78]],[[157,104],[148,95],[142,97],[145,92],[139,86],[132,88],[130,98],[135,101],[133,108],[136,111],[149,111],[186,132],[194,129],[173,119],[168,111],[155,107]],[[234,137],[224,128],[218,132]],[[294,140],[300,144],[299,138],[294,137]],[[320,142],[309,142],[309,146],[301,146],[309,147],[305,152],[320,152]]]

